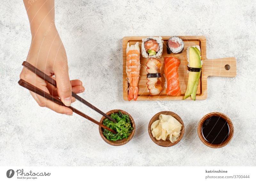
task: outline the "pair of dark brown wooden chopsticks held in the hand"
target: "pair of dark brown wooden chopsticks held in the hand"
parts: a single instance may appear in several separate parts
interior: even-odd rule
[[[37,69],[36,67],[34,67],[32,64],[24,61],[22,63],[22,66],[24,66],[25,68],[29,69],[30,71],[32,71],[33,73],[35,73],[37,76],[41,77],[42,79],[44,79],[45,81],[47,81],[48,83],[52,84],[53,86],[57,87],[56,81],[54,79],[52,79],[50,76],[46,75],[43,71]],[[37,88],[36,86],[28,83],[27,81],[20,79],[18,82],[22,87],[35,92],[38,95],[43,96],[46,99],[51,100],[52,102],[59,104],[60,106],[65,106],[63,104],[63,102],[61,102],[61,100],[57,97],[52,96],[51,94]],[[76,95],[74,92],[72,92],[72,96],[74,98],[76,98],[77,100],[79,100],[80,102],[82,102],[83,104],[85,104],[86,106],[92,108],[93,110],[97,111],[98,113],[100,113],[101,115],[105,116],[106,118],[108,118],[109,120],[116,122],[116,120],[114,120],[113,118],[111,118],[110,116],[108,116],[107,114],[103,113],[102,111],[100,111],[100,109],[98,109],[97,107],[93,106],[92,104],[90,104],[89,102],[87,102],[86,100],[84,100],[83,98],[81,98],[80,96]],[[100,127],[103,127],[113,133],[116,133],[114,130],[106,127],[105,125],[103,125],[102,123],[94,120],[93,118],[91,118],[90,116],[82,113],[81,111],[77,110],[76,108],[72,107],[72,106],[66,106],[70,109],[72,109],[72,111],[76,114],[79,114],[80,116],[86,118],[87,120],[92,121],[93,123],[99,125]]]

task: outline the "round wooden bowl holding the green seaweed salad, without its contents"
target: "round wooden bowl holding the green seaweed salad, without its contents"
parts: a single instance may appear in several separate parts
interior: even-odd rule
[[[112,113],[118,113],[118,111],[120,111],[120,112],[123,113],[123,114],[129,115],[129,118],[130,118],[130,120],[131,120],[131,125],[132,125],[132,127],[133,127],[133,130],[132,130],[131,134],[128,136],[127,139],[124,138],[123,140],[117,140],[117,141],[108,140],[108,139],[103,135],[104,128],[102,128],[102,127],[99,126],[99,132],[100,132],[101,138],[102,138],[106,143],[108,143],[109,145],[114,145],[114,146],[120,146],[120,145],[124,145],[125,143],[128,143],[130,140],[132,140],[132,137],[133,137],[134,132],[135,132],[135,122],[134,122],[132,116],[131,116],[129,113],[127,113],[127,112],[125,112],[125,111],[123,111],[123,110],[120,110],[120,109],[114,109],[114,110],[108,111],[106,114],[107,114],[107,115],[110,115],[110,114],[112,114]],[[105,120],[105,119],[106,119],[106,117],[105,117],[105,116],[102,116],[102,118],[100,119],[100,123],[103,123],[103,120]]]

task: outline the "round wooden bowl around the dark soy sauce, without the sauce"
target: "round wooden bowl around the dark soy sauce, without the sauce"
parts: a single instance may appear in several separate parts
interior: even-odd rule
[[[228,123],[228,127],[229,127],[229,135],[228,135],[228,138],[220,143],[220,144],[212,144],[212,143],[209,143],[207,142],[204,137],[203,137],[203,134],[202,134],[202,126],[204,124],[204,121],[206,119],[208,119],[209,117],[212,117],[212,116],[218,116],[218,117],[221,117],[223,118],[224,120],[227,121]],[[206,114],[198,123],[198,127],[197,127],[197,134],[200,138],[200,140],[208,147],[211,147],[211,148],[221,148],[221,147],[224,147],[226,146],[232,139],[233,135],[234,135],[234,126],[233,126],[233,123],[232,121],[228,118],[228,116],[226,116],[225,114],[223,113],[218,113],[218,112],[213,112],[213,113],[208,113]]]

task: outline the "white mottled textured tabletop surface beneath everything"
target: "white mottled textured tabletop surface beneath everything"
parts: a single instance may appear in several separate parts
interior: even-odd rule
[[[256,165],[254,0],[55,2],[70,78],[85,85],[80,95],[102,111],[125,110],[136,122],[133,140],[120,147],[105,143],[98,126],[76,114],[39,107],[18,85],[31,40],[28,17],[21,0],[1,3],[1,166]],[[150,35],[205,35],[207,57],[236,57],[237,76],[209,77],[203,101],[124,101],[122,38]],[[78,101],[72,105],[101,118]],[[185,123],[183,139],[170,148],[157,146],[148,135],[149,120],[163,110]],[[221,149],[206,147],[197,136],[198,121],[214,111],[228,115],[235,127],[233,140]]]

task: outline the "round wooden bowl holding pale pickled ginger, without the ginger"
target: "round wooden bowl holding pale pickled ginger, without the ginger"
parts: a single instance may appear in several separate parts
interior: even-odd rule
[[[180,136],[179,136],[179,139],[178,139],[176,142],[172,143],[170,140],[165,140],[165,141],[164,141],[164,140],[156,140],[156,138],[153,137],[152,132],[151,132],[151,125],[152,125],[152,123],[155,122],[156,120],[159,120],[159,115],[160,115],[160,114],[171,115],[171,116],[173,116],[176,120],[178,120],[178,121],[180,122],[180,124],[182,124],[182,128],[181,128],[181,131],[180,131]],[[180,116],[179,116],[178,114],[175,114],[175,113],[171,112],[171,111],[162,111],[162,112],[156,113],[156,114],[151,118],[151,120],[149,121],[149,124],[148,124],[148,134],[149,134],[151,140],[152,140],[153,142],[155,142],[157,145],[162,146],[162,147],[171,147],[171,146],[176,145],[177,143],[179,143],[180,140],[181,140],[181,138],[182,138],[183,135],[184,135],[184,130],[185,130],[184,123],[183,123],[183,121],[181,120]]]

